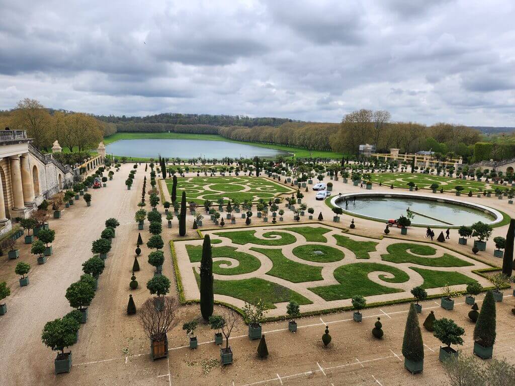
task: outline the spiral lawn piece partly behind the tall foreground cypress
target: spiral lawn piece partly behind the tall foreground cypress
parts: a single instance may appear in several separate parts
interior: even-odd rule
[[[191,262],[199,262],[202,260],[202,245],[186,245],[186,251]],[[245,252],[236,251],[235,247],[213,247],[211,248],[214,258],[231,258],[238,260],[236,267],[231,267],[229,260],[213,261],[213,273],[218,275],[241,275],[244,273],[257,271],[261,267],[261,261]],[[228,265],[228,267],[222,267]]]

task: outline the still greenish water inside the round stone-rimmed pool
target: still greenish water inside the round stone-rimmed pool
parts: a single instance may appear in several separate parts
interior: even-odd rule
[[[412,223],[431,225],[472,225],[477,221],[490,222],[494,218],[480,210],[461,205],[452,205],[436,201],[412,200],[389,197],[356,197],[356,203],[349,201],[338,202],[338,205],[348,212],[381,219],[397,219],[406,216],[406,209],[414,213]],[[439,221],[443,220],[445,222]],[[448,224],[446,224],[448,223]]]

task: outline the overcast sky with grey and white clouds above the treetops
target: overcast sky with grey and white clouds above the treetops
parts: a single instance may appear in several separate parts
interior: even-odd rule
[[[513,0],[0,0],[0,109],[515,126]]]

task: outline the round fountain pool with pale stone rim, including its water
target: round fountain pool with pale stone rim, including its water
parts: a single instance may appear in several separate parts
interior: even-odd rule
[[[493,225],[503,220],[499,211],[488,206],[409,193],[349,193],[333,197],[331,204],[341,207],[348,215],[385,222],[406,216],[409,209],[414,215],[413,225],[456,227],[478,221]]]

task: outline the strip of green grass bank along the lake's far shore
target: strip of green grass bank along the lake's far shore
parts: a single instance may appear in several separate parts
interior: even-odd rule
[[[203,141],[225,141],[237,144],[252,145],[258,147],[266,147],[269,149],[278,149],[295,154],[299,158],[316,157],[316,158],[331,158],[340,160],[344,155],[342,153],[335,153],[332,151],[318,151],[308,150],[302,148],[295,148],[282,145],[268,145],[256,144],[251,142],[234,141],[233,139],[222,137],[217,134],[190,134],[190,133],[115,133],[104,138],[104,144],[110,144],[120,139],[201,139]]]

